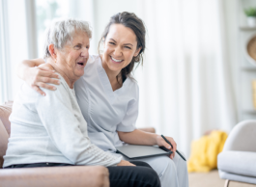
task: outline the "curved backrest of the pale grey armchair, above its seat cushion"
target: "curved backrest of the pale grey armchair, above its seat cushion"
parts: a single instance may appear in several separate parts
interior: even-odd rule
[[[256,120],[243,120],[230,132],[223,147],[225,150],[256,152]]]

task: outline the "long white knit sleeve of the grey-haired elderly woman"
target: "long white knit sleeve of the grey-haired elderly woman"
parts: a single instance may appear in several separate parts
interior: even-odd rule
[[[54,92],[43,89],[46,96],[39,95],[37,111],[49,138],[63,155],[75,165],[114,166],[121,161],[99,147],[91,144],[81,132],[79,121],[74,117],[69,91],[63,83]]]

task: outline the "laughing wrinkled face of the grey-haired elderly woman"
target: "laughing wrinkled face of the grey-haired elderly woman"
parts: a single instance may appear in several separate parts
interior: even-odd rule
[[[87,34],[76,32],[64,50],[58,52],[57,61],[70,79],[76,80],[84,74],[84,67],[89,58],[89,47],[90,40]]]

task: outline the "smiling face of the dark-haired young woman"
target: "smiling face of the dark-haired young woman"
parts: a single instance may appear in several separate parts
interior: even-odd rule
[[[104,40],[103,66],[119,73],[139,51],[134,32],[122,24],[113,24]]]

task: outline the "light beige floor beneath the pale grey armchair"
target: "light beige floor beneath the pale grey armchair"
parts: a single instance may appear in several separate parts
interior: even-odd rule
[[[224,187],[225,180],[219,178],[217,170],[210,173],[188,174],[189,187]],[[229,187],[256,187],[255,184],[245,184],[231,181]]]

